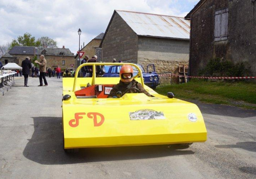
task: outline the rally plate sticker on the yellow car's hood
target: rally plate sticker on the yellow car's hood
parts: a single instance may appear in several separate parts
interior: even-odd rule
[[[151,110],[151,109],[140,109],[135,112],[130,112],[130,120],[158,120],[165,119],[163,112]]]

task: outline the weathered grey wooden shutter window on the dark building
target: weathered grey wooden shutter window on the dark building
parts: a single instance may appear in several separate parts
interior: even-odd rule
[[[215,41],[227,39],[228,8],[215,12]]]

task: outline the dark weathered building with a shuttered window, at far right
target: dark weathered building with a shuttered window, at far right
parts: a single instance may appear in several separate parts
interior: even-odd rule
[[[254,0],[201,0],[190,19],[189,73],[197,76],[212,58],[246,62],[256,76],[256,2]]]

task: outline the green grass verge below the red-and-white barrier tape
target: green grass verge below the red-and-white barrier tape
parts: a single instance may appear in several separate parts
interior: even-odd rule
[[[158,87],[156,92],[162,95],[173,92],[175,98],[183,100],[256,109],[255,83],[195,81]]]

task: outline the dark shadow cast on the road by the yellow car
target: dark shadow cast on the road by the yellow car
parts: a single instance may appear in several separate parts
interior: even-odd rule
[[[35,117],[34,133],[28,139],[24,156],[45,165],[75,164],[99,161],[119,161],[161,158],[164,156],[194,154],[191,150],[179,150],[167,145],[84,148],[78,153],[66,154],[62,146],[62,119]]]

